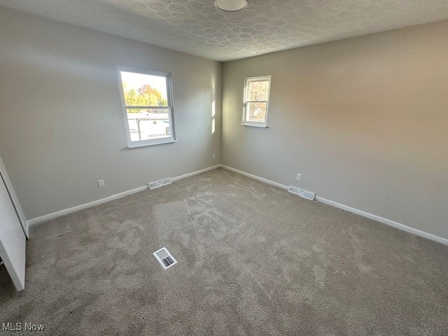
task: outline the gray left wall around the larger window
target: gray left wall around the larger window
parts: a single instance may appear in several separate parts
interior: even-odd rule
[[[27,218],[221,162],[221,63],[3,7],[0,44],[0,157]],[[172,73],[179,142],[127,148],[118,65]]]

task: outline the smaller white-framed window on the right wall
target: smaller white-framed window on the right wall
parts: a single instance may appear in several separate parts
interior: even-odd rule
[[[271,76],[252,77],[244,80],[243,124],[267,127],[267,105]]]

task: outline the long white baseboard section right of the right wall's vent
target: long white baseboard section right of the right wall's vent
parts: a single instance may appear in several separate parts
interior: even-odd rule
[[[335,201],[327,200],[327,199],[325,199],[323,197],[316,196],[316,201],[321,202],[321,203],[325,203],[325,204],[328,204],[328,205],[331,205],[332,207],[336,207],[336,208],[339,208],[339,209],[342,209],[342,210],[345,210],[345,211],[349,211],[349,212],[351,212],[353,214],[357,214],[357,215],[363,216],[365,218],[372,219],[373,221],[377,221],[379,223],[383,223],[383,224],[389,225],[389,226],[391,226],[393,228],[397,228],[399,230],[406,231],[406,232],[412,233],[414,235],[417,235],[417,236],[420,236],[420,237],[423,237],[423,238],[427,238],[427,239],[430,239],[430,240],[433,240],[433,241],[437,241],[438,243],[441,243],[441,244],[444,244],[444,245],[448,245],[448,239],[442,238],[442,237],[439,237],[439,236],[436,236],[436,235],[433,235],[432,233],[428,233],[428,232],[421,231],[419,229],[411,228],[411,227],[409,227],[407,225],[404,225],[404,224],[401,224],[401,223],[398,223],[398,222],[395,222],[395,221],[391,221],[390,219],[387,219],[387,218],[384,218],[384,217],[380,217],[380,216],[377,216],[377,215],[374,215],[374,214],[370,214],[370,213],[365,212],[363,210],[352,208],[352,207],[349,207],[348,205],[340,204],[340,203],[337,203]]]

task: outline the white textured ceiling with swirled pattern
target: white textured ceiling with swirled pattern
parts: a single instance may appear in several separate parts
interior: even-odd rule
[[[7,6],[189,54],[228,61],[448,19],[447,0],[0,0]]]

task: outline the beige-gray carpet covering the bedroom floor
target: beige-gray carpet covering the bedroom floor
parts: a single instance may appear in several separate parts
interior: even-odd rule
[[[223,169],[31,234],[0,323],[39,335],[448,335],[447,246]]]

